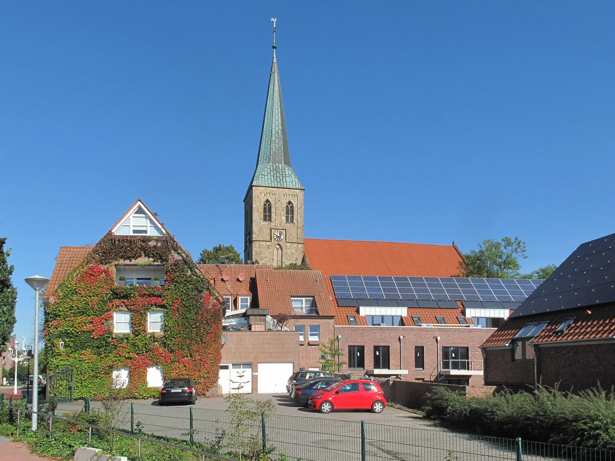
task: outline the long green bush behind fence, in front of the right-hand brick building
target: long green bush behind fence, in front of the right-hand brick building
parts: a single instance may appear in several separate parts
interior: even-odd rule
[[[443,426],[481,435],[615,449],[615,395],[601,388],[578,394],[540,386],[466,398],[436,387],[423,406]]]

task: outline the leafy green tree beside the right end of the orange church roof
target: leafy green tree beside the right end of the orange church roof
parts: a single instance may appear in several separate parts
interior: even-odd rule
[[[465,262],[459,263],[462,277],[518,278],[518,258],[527,258],[525,242],[518,237],[504,237],[501,241],[491,238],[478,243],[478,250],[464,254]]]

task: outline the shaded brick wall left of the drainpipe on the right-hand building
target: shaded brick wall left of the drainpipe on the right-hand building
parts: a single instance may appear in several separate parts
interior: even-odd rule
[[[512,361],[510,349],[485,349],[485,384],[534,385],[534,361]]]

